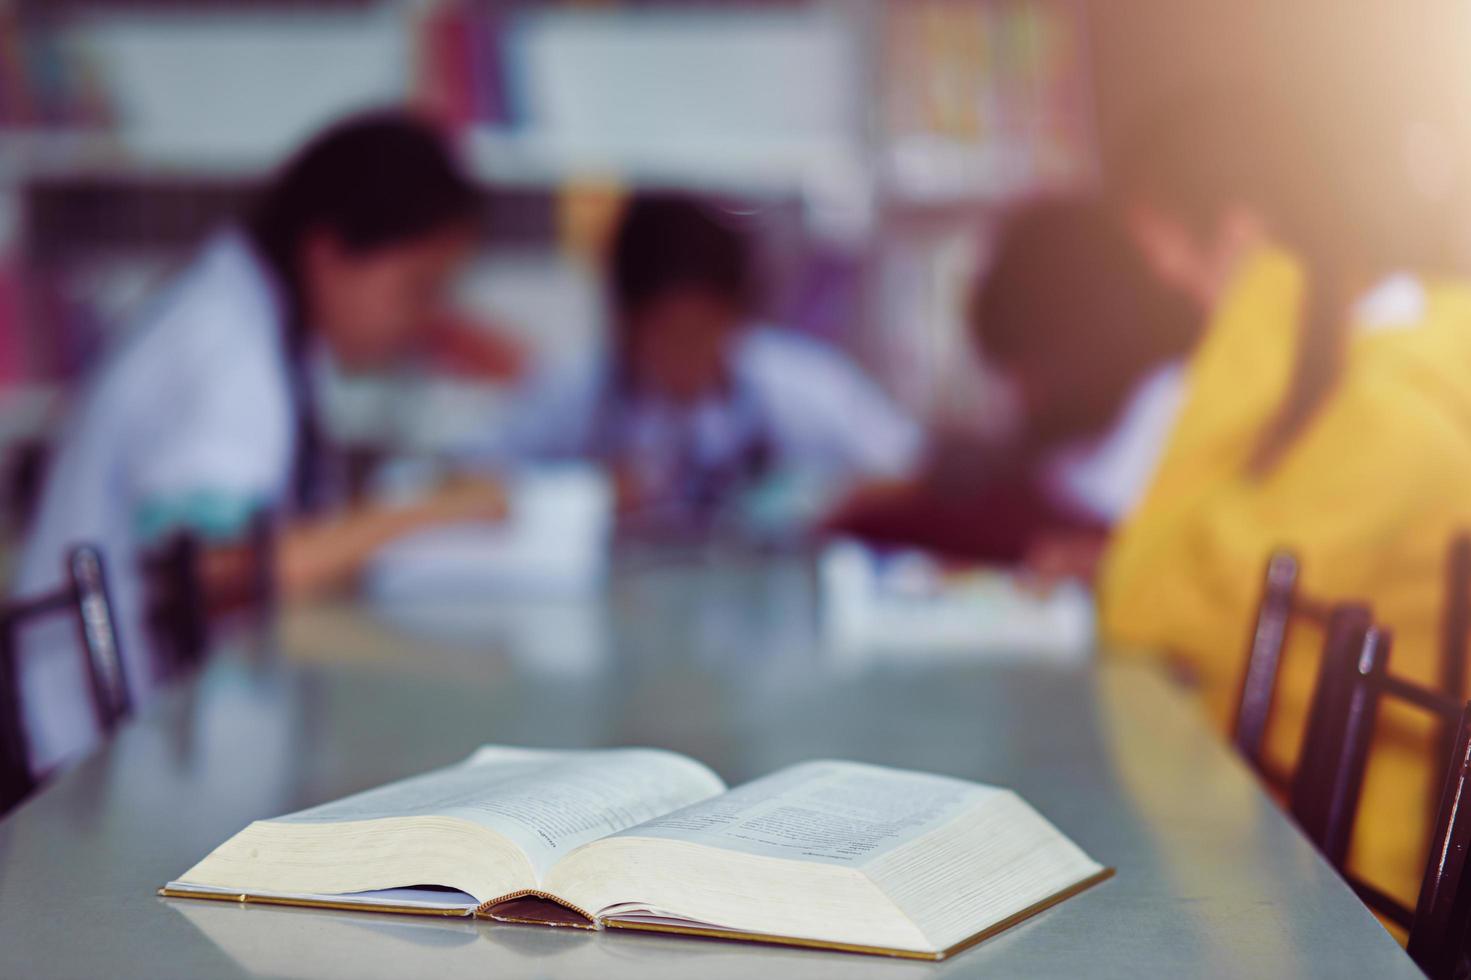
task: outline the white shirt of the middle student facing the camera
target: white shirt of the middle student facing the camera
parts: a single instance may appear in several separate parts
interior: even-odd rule
[[[759,441],[777,469],[831,481],[899,477],[922,452],[921,428],[850,359],[790,330],[752,325],[733,341],[728,390],[681,406],[610,405],[606,358],[534,378],[503,430],[513,459],[627,455],[660,484],[681,466],[737,465]]]

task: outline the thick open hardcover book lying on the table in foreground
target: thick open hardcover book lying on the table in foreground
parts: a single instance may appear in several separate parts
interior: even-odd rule
[[[1109,874],[964,780],[824,761],[727,792],[672,752],[488,746],[256,821],[162,893],[940,959]]]

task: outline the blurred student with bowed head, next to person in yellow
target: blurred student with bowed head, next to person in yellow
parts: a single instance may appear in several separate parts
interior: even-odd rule
[[[1086,280],[1086,283],[1080,283]],[[1153,475],[1202,316],[1161,288],[1111,207],[1047,200],[1008,222],[968,316],[1015,425],[969,466],[863,489],[834,530],[1043,581],[1091,574]]]

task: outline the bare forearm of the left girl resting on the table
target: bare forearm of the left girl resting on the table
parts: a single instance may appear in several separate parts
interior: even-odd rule
[[[285,602],[319,596],[352,583],[388,542],[419,528],[506,515],[500,484],[457,478],[406,505],[365,505],[287,525],[275,550],[275,584]]]

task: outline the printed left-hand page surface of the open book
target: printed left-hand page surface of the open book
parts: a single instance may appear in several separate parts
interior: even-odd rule
[[[565,752],[485,746],[443,770],[322,803],[274,823],[455,817],[510,839],[544,877],[578,845],[725,789],[694,759],[659,749]]]

